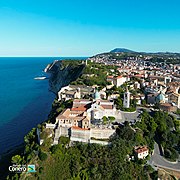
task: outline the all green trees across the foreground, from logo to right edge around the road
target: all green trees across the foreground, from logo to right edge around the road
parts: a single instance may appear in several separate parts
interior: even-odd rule
[[[10,174],[9,178],[156,179],[157,173],[146,164],[146,160],[129,161],[127,155],[133,156],[133,147],[139,145],[147,145],[151,153],[154,139],[158,136],[164,149],[170,151],[168,158],[174,160],[179,151],[179,135],[179,121],[164,112],[157,112],[152,117],[146,111],[135,125],[130,126],[128,122],[119,125],[117,135],[111,138],[108,146],[82,143],[70,145],[66,137],[60,138],[60,144],[51,146],[48,134],[44,134],[44,143],[40,146],[34,128],[25,137],[24,153],[13,156],[12,162],[35,164],[37,172]]]

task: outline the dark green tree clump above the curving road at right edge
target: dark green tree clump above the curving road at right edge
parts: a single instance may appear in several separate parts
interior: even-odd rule
[[[141,122],[136,126],[143,131],[144,139],[153,148],[154,139],[164,149],[164,157],[176,161],[180,153],[180,122],[163,111],[156,112],[153,117],[146,111],[141,115]]]

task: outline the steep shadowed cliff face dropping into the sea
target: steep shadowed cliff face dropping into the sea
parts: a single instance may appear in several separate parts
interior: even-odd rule
[[[66,64],[63,65],[62,61],[54,62],[47,72],[51,73],[49,78],[50,91],[55,94],[64,87],[69,85],[70,82],[75,81],[81,74],[85,64]]]

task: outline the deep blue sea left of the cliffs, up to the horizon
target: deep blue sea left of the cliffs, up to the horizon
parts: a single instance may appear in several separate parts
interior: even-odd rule
[[[33,127],[47,119],[55,95],[48,79],[34,78],[56,59],[66,58],[0,58],[0,154],[21,144]]]

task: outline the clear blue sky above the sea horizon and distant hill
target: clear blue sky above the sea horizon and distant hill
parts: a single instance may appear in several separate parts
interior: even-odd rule
[[[180,52],[178,0],[1,0],[0,56]]]

